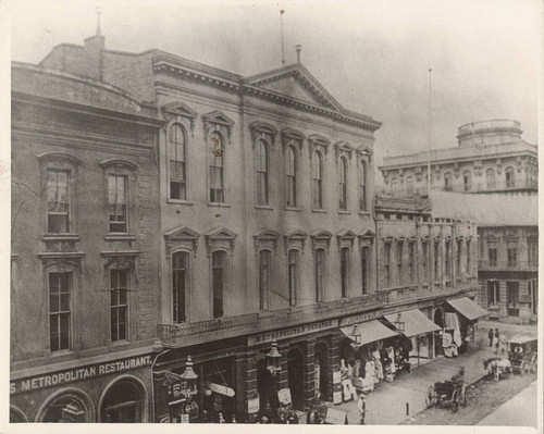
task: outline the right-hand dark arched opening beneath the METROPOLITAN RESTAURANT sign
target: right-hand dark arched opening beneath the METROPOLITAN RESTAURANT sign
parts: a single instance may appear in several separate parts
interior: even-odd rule
[[[144,386],[135,380],[122,379],[102,396],[100,421],[106,423],[145,422],[145,405]]]

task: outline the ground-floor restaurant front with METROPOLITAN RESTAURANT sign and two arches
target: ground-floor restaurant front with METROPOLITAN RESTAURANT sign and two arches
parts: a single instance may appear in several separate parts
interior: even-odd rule
[[[100,359],[41,367],[32,375],[12,372],[10,422],[152,421],[152,354]]]

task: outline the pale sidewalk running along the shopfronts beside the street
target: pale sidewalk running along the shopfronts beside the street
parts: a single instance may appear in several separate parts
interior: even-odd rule
[[[399,374],[394,382],[382,382],[372,393],[366,395],[367,425],[396,425],[407,418],[419,413],[425,409],[425,393],[435,382],[444,382],[452,379],[459,372],[459,368],[465,368],[465,384],[479,381],[485,375],[483,361],[495,356],[494,348],[489,347],[487,332],[491,325],[487,322],[479,324],[475,328],[475,342],[469,345],[468,350],[456,358],[437,357],[430,363],[413,367],[411,372]],[[514,331],[504,330],[500,324],[499,332],[505,337],[515,334]],[[526,326],[526,330],[528,326]],[[508,357],[500,354],[500,357]],[[470,393],[470,392],[468,392]],[[408,414],[407,414],[408,405]],[[330,405],[338,410],[346,411],[349,424],[359,424],[360,417],[357,410],[357,401],[344,402],[341,405]]]

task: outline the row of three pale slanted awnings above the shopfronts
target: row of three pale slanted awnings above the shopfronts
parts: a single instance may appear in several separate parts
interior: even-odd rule
[[[487,314],[484,309],[482,309],[468,297],[447,300],[447,303],[469,321],[474,321]],[[419,336],[441,330],[438,325],[426,318],[426,315],[419,309],[410,309],[401,312],[386,314],[384,315],[384,319],[393,326],[395,326],[395,323],[400,320],[404,323],[404,331],[401,332],[401,334],[406,337]],[[387,327],[379,320],[371,320],[359,323],[357,324],[357,327],[360,333],[360,342],[358,343],[358,345],[367,345],[376,340],[382,340],[399,335],[398,331]],[[347,337],[354,339],[354,325],[341,327],[341,331]]]

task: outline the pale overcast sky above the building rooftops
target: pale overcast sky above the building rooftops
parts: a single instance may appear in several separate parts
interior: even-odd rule
[[[424,150],[432,67],[433,147],[456,146],[469,122],[516,119],[537,137],[542,11],[533,0],[26,1],[12,3],[12,60],[37,63],[96,29],[113,50],[159,48],[243,75],[304,65],[344,107],[383,122],[378,162]]]

